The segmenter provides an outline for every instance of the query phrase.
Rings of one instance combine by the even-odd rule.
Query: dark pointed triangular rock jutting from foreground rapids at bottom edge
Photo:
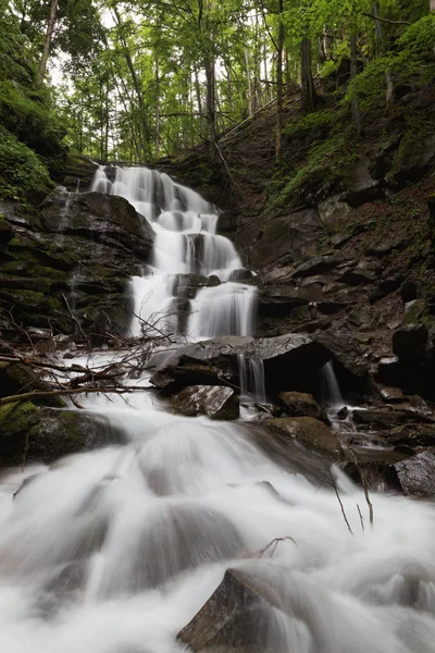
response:
[[[273,590],[241,569],[227,569],[224,579],[177,639],[194,651],[283,653],[284,633],[272,607]]]

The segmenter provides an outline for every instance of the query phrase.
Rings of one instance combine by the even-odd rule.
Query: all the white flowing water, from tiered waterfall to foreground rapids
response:
[[[99,171],[96,184],[130,197],[158,235],[153,269],[133,282],[137,315],[164,306],[169,324],[176,274],[225,281],[240,268],[211,208],[165,175],[119,170],[110,185]],[[206,234],[200,256],[195,233]],[[225,256],[206,254],[207,238]],[[204,291],[215,287],[233,317],[211,317],[211,292],[201,312],[201,291],[199,334],[241,330],[244,284]],[[243,392],[263,398],[261,362],[239,365]],[[334,489],[296,467],[298,447],[283,469],[252,427],[165,412],[148,379],[129,379],[145,389],[130,396],[80,397],[117,444],[1,477],[0,651],[433,653],[433,503],[372,494],[371,528],[363,492],[333,469],[351,534]]]

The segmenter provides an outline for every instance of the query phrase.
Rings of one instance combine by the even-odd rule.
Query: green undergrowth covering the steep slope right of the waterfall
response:
[[[419,156],[434,133],[434,120],[427,110],[415,112],[397,98],[387,101],[386,72],[394,88],[402,85],[403,93],[418,94],[431,86],[435,78],[434,42],[435,14],[431,14],[410,25],[395,49],[371,61],[347,88],[331,94],[325,107],[288,122],[283,132],[283,155],[269,187],[268,208],[295,210],[345,192],[358,158],[380,150],[395,125],[399,134],[389,177],[395,178],[403,164]],[[364,124],[361,138],[351,119],[355,97]]]

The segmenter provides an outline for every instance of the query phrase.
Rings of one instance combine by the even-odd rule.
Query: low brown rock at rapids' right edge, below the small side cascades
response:
[[[291,438],[331,458],[341,457],[341,446],[336,433],[322,421],[312,417],[295,417],[277,418],[268,423],[273,431],[284,438]]]

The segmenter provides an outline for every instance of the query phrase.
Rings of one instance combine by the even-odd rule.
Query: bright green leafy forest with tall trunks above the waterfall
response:
[[[358,136],[400,76],[433,77],[434,10],[435,0],[1,0],[0,178],[10,187],[37,157],[45,183],[66,147],[152,162],[204,143],[217,156],[222,134],[269,106],[279,157],[295,128],[283,124],[289,96],[303,130],[314,111],[334,122],[322,95],[336,94]],[[23,169],[4,173],[17,143]]]

